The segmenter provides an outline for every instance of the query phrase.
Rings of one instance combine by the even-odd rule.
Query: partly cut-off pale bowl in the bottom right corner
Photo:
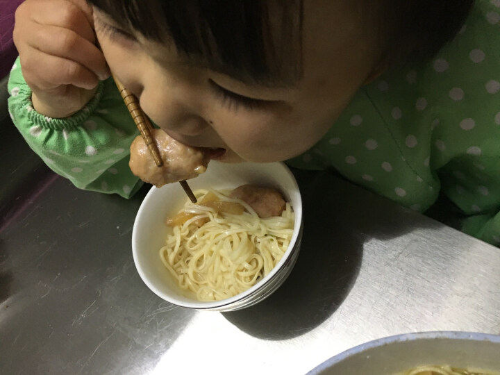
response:
[[[393,375],[420,365],[500,372],[500,336],[435,331],[381,338],[326,360],[308,375]]]

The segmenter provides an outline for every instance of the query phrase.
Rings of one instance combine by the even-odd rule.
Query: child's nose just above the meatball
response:
[[[169,90],[147,90],[140,94],[142,110],[164,131],[179,135],[194,136],[203,132],[207,126],[197,113],[195,99],[176,96]]]

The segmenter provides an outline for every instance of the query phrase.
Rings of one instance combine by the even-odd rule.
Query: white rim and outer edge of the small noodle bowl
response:
[[[247,162],[247,164],[258,164],[258,163]],[[133,228],[132,228],[132,255],[133,255],[133,261],[135,264],[135,269],[137,269],[140,278],[147,285],[149,290],[151,290],[153,293],[155,293],[161,299],[163,299],[169,303],[172,303],[176,306],[180,306],[183,308],[192,308],[192,309],[196,309],[196,310],[218,310],[218,311],[221,311],[221,310],[224,310],[224,308],[230,308],[234,304],[239,303],[240,301],[242,301],[244,299],[248,299],[251,294],[255,294],[255,293],[259,292],[261,289],[265,288],[265,286],[277,276],[278,271],[283,268],[283,265],[285,265],[288,258],[290,258],[290,256],[292,256],[292,253],[294,253],[294,251],[298,250],[298,249],[296,249],[296,244],[299,242],[298,240],[300,240],[299,236],[301,234],[301,226],[303,223],[303,206],[302,206],[303,203],[302,203],[302,195],[301,195],[301,192],[299,189],[299,184],[297,183],[297,179],[295,178],[294,174],[292,173],[292,170],[288,167],[288,165],[286,165],[283,162],[274,162],[274,163],[266,163],[266,164],[280,165],[280,167],[283,169],[283,172],[285,172],[285,174],[287,174],[290,177],[290,182],[292,183],[294,190],[298,192],[297,201],[299,203],[299,207],[294,208],[294,213],[299,213],[299,215],[295,216],[294,233],[292,235],[292,239],[290,240],[290,245],[289,245],[288,249],[285,251],[285,254],[280,259],[280,261],[278,262],[276,267],[274,267],[271,270],[271,272],[269,272],[269,274],[267,274],[265,276],[265,278],[258,281],[258,283],[253,285],[251,288],[245,290],[244,292],[241,292],[240,294],[236,294],[235,296],[233,296],[231,298],[222,299],[219,301],[196,301],[193,299],[190,302],[185,302],[185,301],[179,301],[178,299],[175,299],[175,297],[172,297],[169,294],[165,294],[165,293],[161,292],[153,285],[153,283],[151,283],[149,281],[148,276],[144,273],[144,270],[142,269],[142,267],[139,266],[140,263],[138,261],[138,246],[136,246],[137,236],[138,236],[138,234],[137,234],[138,226],[136,226],[135,223],[136,223],[138,217],[140,215],[143,215],[142,211],[145,209],[144,202],[151,199],[151,196],[153,194],[156,194],[156,192],[158,190],[160,190],[160,188],[156,188],[156,186],[152,186],[140,204],[140,207],[138,209],[138,213],[135,215],[134,224],[133,224]],[[297,217],[299,217],[298,222],[297,222]],[[296,228],[297,228],[297,230],[296,230]]]

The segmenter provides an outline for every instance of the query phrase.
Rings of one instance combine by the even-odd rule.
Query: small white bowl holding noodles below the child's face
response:
[[[265,278],[252,288],[222,301],[197,301],[178,288],[174,278],[160,260],[159,251],[165,244],[168,228],[165,217],[176,213],[187,199],[178,183],[151,188],[142,201],[132,232],[135,267],[142,281],[159,297],[185,308],[230,311],[246,308],[262,301],[276,290],[292,270],[299,254],[302,237],[302,201],[297,181],[283,163],[226,164],[211,161],[207,172],[188,181],[192,190],[231,189],[245,183],[277,188],[289,201],[295,213],[295,226],[290,247]]]

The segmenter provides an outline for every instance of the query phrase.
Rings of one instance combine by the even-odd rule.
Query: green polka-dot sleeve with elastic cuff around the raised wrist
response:
[[[17,58],[8,82],[12,122],[31,149],[54,172],[80,189],[131,197],[142,185],[128,167],[129,147],[138,135],[111,78],[77,113],[63,119],[33,109],[31,89]]]

